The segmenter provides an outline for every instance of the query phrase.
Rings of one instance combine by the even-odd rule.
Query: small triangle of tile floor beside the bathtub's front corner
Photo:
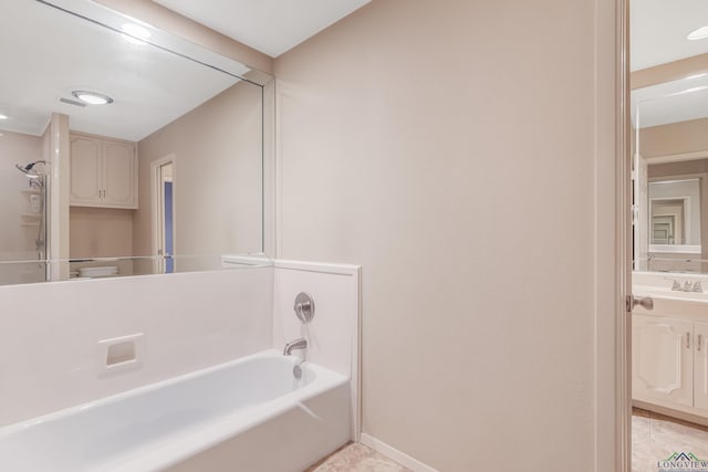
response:
[[[364,444],[346,444],[305,472],[410,472]]]

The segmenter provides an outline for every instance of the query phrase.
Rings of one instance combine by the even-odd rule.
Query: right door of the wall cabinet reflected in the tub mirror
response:
[[[103,144],[103,203],[112,207],[135,207],[135,147],[132,144],[106,140]]]

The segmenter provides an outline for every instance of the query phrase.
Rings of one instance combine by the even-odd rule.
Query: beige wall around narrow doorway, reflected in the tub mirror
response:
[[[152,252],[150,166],[168,156],[175,162],[175,253],[261,250],[261,102],[259,86],[240,82],[138,143],[136,255]]]

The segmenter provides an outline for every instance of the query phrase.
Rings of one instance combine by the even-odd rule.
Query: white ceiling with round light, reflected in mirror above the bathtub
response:
[[[92,2],[71,0],[82,3]],[[0,127],[30,135],[44,132],[51,113],[63,113],[74,130],[139,140],[238,82],[29,0],[0,3],[0,114],[10,118]],[[74,90],[115,103],[82,108],[60,102]]]

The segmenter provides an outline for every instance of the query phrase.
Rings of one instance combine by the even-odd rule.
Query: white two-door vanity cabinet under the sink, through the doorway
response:
[[[633,398],[708,415],[708,323],[641,314],[632,319]]]

